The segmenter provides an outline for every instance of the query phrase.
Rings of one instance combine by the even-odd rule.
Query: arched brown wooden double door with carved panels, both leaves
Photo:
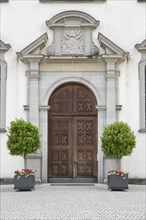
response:
[[[48,113],[48,181],[97,182],[97,112],[82,84],[60,86]]]

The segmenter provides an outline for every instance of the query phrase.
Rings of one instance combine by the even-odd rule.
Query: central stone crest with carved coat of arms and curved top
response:
[[[66,11],[46,21],[53,29],[54,40],[48,56],[93,56],[99,53],[92,41],[92,30],[99,21],[81,11]]]

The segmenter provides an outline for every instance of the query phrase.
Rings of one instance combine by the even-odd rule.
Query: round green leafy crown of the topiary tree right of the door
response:
[[[104,128],[101,144],[105,156],[122,157],[131,155],[136,137],[127,123],[117,121]]]

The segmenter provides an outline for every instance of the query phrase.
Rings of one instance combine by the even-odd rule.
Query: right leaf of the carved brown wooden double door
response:
[[[97,113],[89,89],[74,86],[74,176],[97,176]]]

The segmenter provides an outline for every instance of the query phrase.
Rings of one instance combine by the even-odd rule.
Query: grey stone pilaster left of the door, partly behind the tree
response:
[[[39,128],[39,63],[43,55],[26,55],[23,61],[29,64],[28,77],[28,120]],[[39,128],[40,129],[40,128]],[[25,159],[25,166],[36,172],[36,182],[42,181],[42,154],[41,150],[29,154]]]

